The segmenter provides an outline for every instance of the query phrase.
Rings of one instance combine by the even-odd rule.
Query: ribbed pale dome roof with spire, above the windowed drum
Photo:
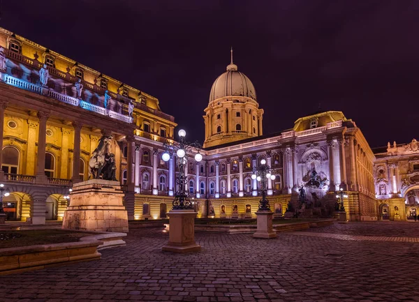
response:
[[[233,56],[227,71],[216,78],[212,84],[210,102],[224,96],[247,96],[256,100],[256,90],[249,77],[237,70]]]

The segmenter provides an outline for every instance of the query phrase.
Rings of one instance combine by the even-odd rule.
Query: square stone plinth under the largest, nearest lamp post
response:
[[[169,216],[169,242],[163,246],[165,252],[198,252],[200,245],[195,242],[195,218],[193,210],[172,210]]]

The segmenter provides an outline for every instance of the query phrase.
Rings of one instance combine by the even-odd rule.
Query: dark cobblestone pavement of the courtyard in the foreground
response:
[[[393,223],[393,233],[404,225],[415,227]],[[376,236],[381,225],[344,225],[362,227]],[[161,229],[135,229],[126,247],[103,250],[101,260],[1,276],[0,301],[419,301],[419,243],[287,233],[196,240],[201,252],[174,255],[161,252]]]

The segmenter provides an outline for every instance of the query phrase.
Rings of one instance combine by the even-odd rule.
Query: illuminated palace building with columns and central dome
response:
[[[89,179],[89,158],[101,135],[112,136],[117,179],[129,220],[166,218],[176,191],[176,158],[162,160],[175,139],[175,119],[159,100],[0,29],[0,182],[8,220],[61,220],[73,183]],[[263,109],[249,77],[231,61],[216,78],[205,115],[205,142],[188,154],[187,188],[198,217],[255,218],[260,199],[251,179],[261,159],[276,216],[297,204],[302,186],[330,216],[344,190],[349,220],[408,220],[419,205],[419,144],[369,147],[342,112],[315,112],[293,127],[263,133]],[[320,206],[321,205],[321,206]]]

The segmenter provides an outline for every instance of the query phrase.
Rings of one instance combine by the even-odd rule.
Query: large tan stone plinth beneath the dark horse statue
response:
[[[118,181],[91,179],[73,185],[63,229],[128,232],[128,215]]]

